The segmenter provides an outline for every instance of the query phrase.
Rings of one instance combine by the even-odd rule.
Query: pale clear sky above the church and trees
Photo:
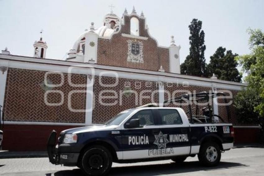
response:
[[[125,7],[131,13],[143,10],[150,34],[158,44],[168,46],[174,35],[181,45],[180,62],[189,54],[189,28],[193,18],[203,21],[205,58],[219,46],[234,53],[249,53],[248,27],[264,30],[264,1],[143,1],[143,0],[0,0],[0,49],[8,47],[11,54],[33,56],[33,43],[39,31],[48,43],[46,58],[62,59],[75,40],[91,22],[103,25],[103,17],[115,6],[114,13],[122,16]]]

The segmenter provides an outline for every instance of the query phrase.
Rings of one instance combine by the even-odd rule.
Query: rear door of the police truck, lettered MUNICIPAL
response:
[[[190,128],[187,120],[182,119],[177,109],[155,109],[160,115],[159,136],[163,143],[155,141],[158,148],[165,149],[169,155],[189,155]]]

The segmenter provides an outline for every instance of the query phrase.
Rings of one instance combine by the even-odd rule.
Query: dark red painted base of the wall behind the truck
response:
[[[77,126],[5,124],[3,128],[3,150],[45,151],[48,137],[53,129],[59,135],[61,131],[74,127]],[[259,142],[260,130],[257,128],[234,128],[234,133],[235,143]]]

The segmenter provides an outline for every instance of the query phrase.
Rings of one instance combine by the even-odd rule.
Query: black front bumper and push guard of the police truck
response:
[[[59,145],[56,144],[56,131],[52,131],[47,144],[48,158],[52,164],[63,164],[65,166],[76,166],[78,163],[79,153],[77,152],[60,152]],[[62,144],[63,146],[63,144]],[[65,149],[65,148],[64,148]]]

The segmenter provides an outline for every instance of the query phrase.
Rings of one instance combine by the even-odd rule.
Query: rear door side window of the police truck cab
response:
[[[182,124],[180,114],[176,109],[159,109],[162,125]]]

